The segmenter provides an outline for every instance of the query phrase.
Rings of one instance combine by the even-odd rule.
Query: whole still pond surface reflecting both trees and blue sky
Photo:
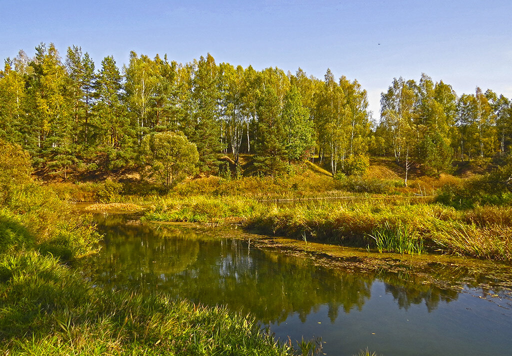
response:
[[[510,290],[485,278],[472,284],[450,266],[433,271],[440,283],[349,272],[256,235],[126,219],[98,217],[103,247],[86,270],[98,286],[224,304],[250,312],[282,340],[322,337],[328,355],[366,347],[382,355],[512,354]]]

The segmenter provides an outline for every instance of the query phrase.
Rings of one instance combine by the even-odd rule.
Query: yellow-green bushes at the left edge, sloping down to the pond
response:
[[[4,152],[7,155],[1,156],[2,162],[11,167],[13,175],[9,184],[0,186],[4,197],[2,249],[33,246],[64,260],[91,253],[100,237],[90,219],[73,214],[51,190],[33,182],[28,175],[30,165],[29,171],[27,166],[17,166],[28,161],[25,152],[9,145]]]

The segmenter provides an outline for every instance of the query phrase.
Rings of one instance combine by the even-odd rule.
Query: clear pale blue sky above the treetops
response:
[[[106,55],[122,67],[134,50],[318,78],[330,68],[361,83],[375,118],[393,77],[422,72],[459,95],[479,86],[512,98],[512,0],[0,0],[0,58],[41,42],[61,55],[80,46],[97,67]]]

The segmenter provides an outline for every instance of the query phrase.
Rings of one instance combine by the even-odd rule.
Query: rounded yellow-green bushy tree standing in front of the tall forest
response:
[[[141,160],[150,165],[165,187],[172,187],[194,172],[199,160],[196,145],[184,135],[158,133],[145,136],[141,143]]]

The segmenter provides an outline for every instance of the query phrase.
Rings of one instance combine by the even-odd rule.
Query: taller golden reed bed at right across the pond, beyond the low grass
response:
[[[442,250],[485,259],[512,261],[510,208],[454,208],[408,203],[324,203],[272,207],[245,219],[244,226],[307,241],[337,241],[420,254]],[[371,241],[370,241],[371,242]]]

